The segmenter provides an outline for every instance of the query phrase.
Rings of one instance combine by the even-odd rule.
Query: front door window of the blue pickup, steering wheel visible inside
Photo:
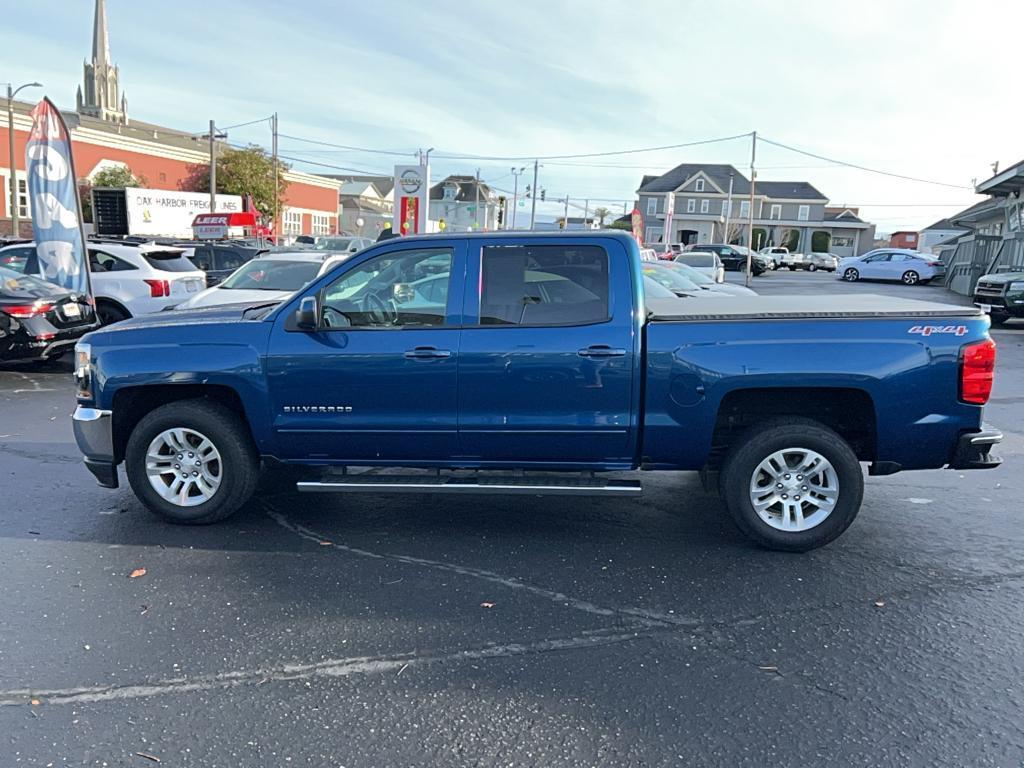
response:
[[[324,292],[329,328],[433,328],[445,322],[451,249],[386,253],[345,272]]]

